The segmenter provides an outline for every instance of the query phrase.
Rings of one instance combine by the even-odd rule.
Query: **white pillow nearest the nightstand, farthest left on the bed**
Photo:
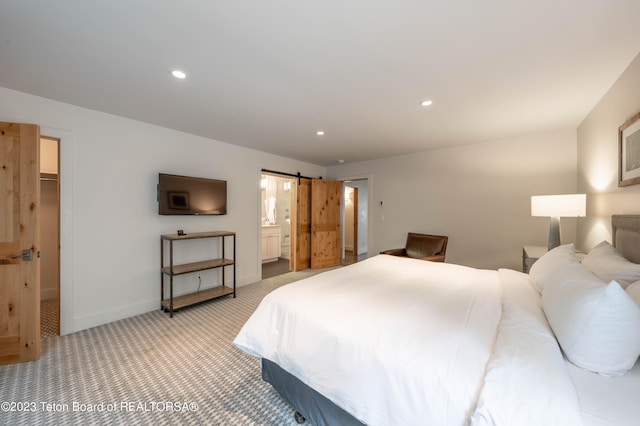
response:
[[[565,271],[567,277],[571,277],[571,271],[579,267],[580,262],[576,258],[573,244],[565,244],[549,250],[531,265],[529,278],[538,292],[542,293],[547,282],[563,278],[564,273],[562,276],[558,275],[561,271]]]

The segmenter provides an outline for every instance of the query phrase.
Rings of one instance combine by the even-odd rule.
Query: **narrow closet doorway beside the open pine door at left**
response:
[[[40,336],[60,335],[60,140],[40,138]]]

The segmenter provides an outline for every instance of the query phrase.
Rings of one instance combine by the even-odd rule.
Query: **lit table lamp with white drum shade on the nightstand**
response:
[[[586,215],[586,194],[533,195],[531,197],[531,216],[550,218],[549,244],[551,250],[560,245],[560,218]]]

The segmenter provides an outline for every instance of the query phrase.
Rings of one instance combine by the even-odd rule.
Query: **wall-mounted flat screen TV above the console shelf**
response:
[[[158,212],[161,215],[227,214],[227,181],[160,173]]]

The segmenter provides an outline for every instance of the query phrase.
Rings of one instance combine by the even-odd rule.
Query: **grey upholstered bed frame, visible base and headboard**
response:
[[[640,215],[613,215],[611,238],[628,260],[640,263]],[[302,383],[276,363],[262,359],[262,378],[296,410],[298,423],[310,420],[314,426],[363,426],[351,414]]]

